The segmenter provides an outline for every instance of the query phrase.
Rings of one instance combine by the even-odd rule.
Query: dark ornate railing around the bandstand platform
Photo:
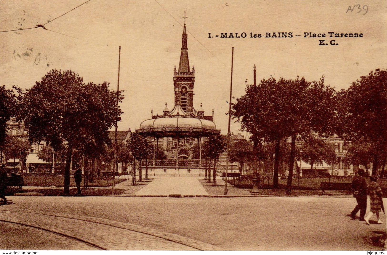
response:
[[[185,159],[185,158],[148,158],[141,161],[142,167],[147,164],[148,167],[213,167],[212,160]]]

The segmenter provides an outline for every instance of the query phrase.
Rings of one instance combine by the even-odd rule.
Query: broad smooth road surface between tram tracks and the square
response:
[[[356,205],[353,197],[10,196],[9,199],[14,204],[0,206],[0,210],[10,211],[0,213],[1,217],[13,214],[12,211],[28,213],[29,210],[66,214],[70,218],[111,224],[117,229],[113,235],[124,228],[200,250],[215,250],[216,247],[225,250],[381,250],[380,240],[386,231],[385,214],[381,214],[383,224],[376,224],[373,216],[371,225],[346,216]],[[387,204],[387,199],[384,202]],[[74,219],[52,223],[59,224],[58,229],[65,223],[82,224]],[[68,228],[65,226],[65,230],[73,231]],[[92,231],[82,233],[94,235]],[[101,245],[103,243],[101,241]]]

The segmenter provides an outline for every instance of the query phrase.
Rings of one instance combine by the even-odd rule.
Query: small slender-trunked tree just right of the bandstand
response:
[[[204,142],[202,154],[205,158],[214,160],[214,171],[212,173],[212,185],[216,186],[216,163],[219,156],[226,151],[226,141],[221,134],[209,136],[208,141]]]

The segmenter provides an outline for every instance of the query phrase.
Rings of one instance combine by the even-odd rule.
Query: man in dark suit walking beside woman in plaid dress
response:
[[[367,183],[364,170],[358,171],[358,176],[352,181],[353,196],[356,197],[358,203],[351,212],[352,219],[356,219],[356,214],[360,210],[360,221],[364,221],[365,211],[367,209]]]

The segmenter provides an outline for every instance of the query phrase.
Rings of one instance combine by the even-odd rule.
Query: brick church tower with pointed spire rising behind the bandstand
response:
[[[184,12],[184,27],[182,34],[182,52],[180,54],[179,69],[173,70],[173,85],[175,87],[175,105],[180,104],[182,109],[187,113],[193,112],[194,105],[194,83],[195,83],[195,68],[192,66],[190,71],[190,62],[188,61],[187,48],[187,31],[185,29]]]

